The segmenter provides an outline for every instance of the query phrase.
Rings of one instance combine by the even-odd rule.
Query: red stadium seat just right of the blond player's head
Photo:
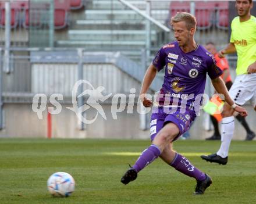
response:
[[[195,2],[195,18],[198,29],[207,29],[212,26],[215,2]]]

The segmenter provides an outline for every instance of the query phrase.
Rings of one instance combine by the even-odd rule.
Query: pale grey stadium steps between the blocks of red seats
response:
[[[144,0],[130,0],[145,12]],[[151,16],[161,23],[168,19],[169,2],[152,2]],[[93,51],[131,51],[128,56],[140,61],[141,49],[145,48],[147,33],[144,17],[138,15],[118,0],[88,0],[84,15],[72,25],[67,37],[56,41],[60,47],[82,47]],[[159,28],[151,24],[152,46],[162,40]],[[136,53],[138,55],[131,55]],[[127,56],[127,55],[126,55]]]

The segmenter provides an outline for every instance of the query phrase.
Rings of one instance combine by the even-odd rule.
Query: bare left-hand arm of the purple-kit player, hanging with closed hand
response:
[[[150,85],[156,75],[157,75],[157,68],[154,65],[152,65],[152,63],[151,63],[151,65],[148,67],[148,69],[145,73],[141,91],[140,91],[140,100],[141,100],[141,102],[143,102],[143,105],[145,107],[150,107],[152,105],[152,101],[147,99],[145,97],[145,94],[147,93],[148,88],[150,88]]]

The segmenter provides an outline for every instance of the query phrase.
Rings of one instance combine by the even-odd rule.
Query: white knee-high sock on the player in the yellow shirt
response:
[[[234,134],[234,116],[224,117],[221,124],[221,147],[217,155],[226,158],[229,154],[229,145]]]

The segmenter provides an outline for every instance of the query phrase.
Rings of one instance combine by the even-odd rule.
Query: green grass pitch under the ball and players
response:
[[[0,203],[256,203],[256,141],[232,141],[226,166],[201,160],[219,141],[176,141],[174,147],[213,180],[204,195],[193,196],[195,180],[157,159],[123,185],[120,178],[146,140],[0,139]],[[76,190],[53,198],[47,179],[70,173]]]

